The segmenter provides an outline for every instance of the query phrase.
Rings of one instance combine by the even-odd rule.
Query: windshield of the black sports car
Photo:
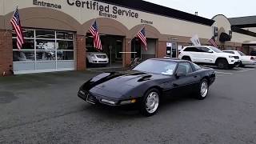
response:
[[[168,62],[161,60],[149,59],[136,66],[133,70],[154,73],[173,75],[177,66],[177,62]]]

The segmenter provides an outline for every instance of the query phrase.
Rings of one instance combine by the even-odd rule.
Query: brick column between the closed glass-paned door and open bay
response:
[[[86,70],[86,37],[77,35],[77,70]]]

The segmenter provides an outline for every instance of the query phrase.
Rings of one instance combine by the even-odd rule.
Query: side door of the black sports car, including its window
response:
[[[178,76],[178,74],[184,74]],[[174,95],[189,94],[196,88],[196,83],[200,81],[200,76],[190,66],[190,62],[179,62],[175,73],[175,79],[172,82]]]

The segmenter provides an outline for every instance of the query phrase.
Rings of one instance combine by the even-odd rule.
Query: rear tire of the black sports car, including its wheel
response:
[[[197,98],[199,100],[203,100],[207,97],[209,92],[209,82],[207,81],[206,78],[202,79],[198,86],[198,93],[197,93]]]

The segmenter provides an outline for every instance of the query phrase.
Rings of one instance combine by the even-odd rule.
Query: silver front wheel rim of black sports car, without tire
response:
[[[146,98],[146,111],[153,114],[158,110],[159,106],[159,95],[157,92],[151,92]]]

